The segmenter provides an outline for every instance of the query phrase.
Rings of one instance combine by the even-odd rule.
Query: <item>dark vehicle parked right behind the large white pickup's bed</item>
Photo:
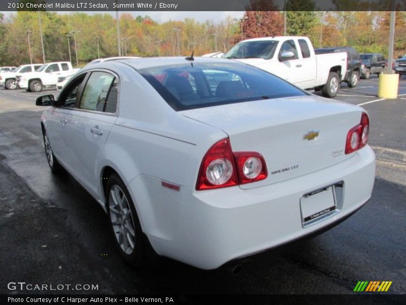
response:
[[[316,54],[326,54],[326,53],[347,53],[347,73],[344,81],[349,87],[355,87],[358,83],[361,74],[361,57],[356,49],[351,47],[334,47],[334,48],[322,48],[316,49]]]

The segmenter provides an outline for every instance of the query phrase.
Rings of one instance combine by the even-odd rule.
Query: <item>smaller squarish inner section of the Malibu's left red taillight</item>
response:
[[[267,177],[265,160],[260,154],[247,151],[234,153],[234,157],[240,184],[259,181]]]

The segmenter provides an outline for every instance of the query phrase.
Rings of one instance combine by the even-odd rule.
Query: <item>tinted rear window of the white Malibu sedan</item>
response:
[[[307,95],[272,74],[240,63],[187,63],[138,72],[176,111]]]

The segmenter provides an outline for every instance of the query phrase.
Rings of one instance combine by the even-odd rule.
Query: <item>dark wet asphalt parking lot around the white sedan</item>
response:
[[[351,294],[358,281],[393,281],[387,293],[406,293],[406,77],[395,100],[379,99],[377,85],[376,76],[343,84],[335,98],[368,111],[377,156],[371,200],[332,230],[254,256],[238,276],[170,259],[128,267],[99,205],[72,177],[48,168],[35,98],[56,92],[0,89],[0,293],[35,292],[8,289],[18,281],[98,285],[51,293],[176,295]]]

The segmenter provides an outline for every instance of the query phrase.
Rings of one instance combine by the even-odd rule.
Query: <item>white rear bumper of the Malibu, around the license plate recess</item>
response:
[[[143,230],[158,254],[213,269],[341,221],[368,201],[374,179],[375,155],[366,146],[340,164],[249,190],[231,187],[197,192],[181,187],[176,192],[158,188],[159,179],[145,176],[131,181],[128,189],[132,196],[140,194],[140,182],[149,189],[144,189],[149,210],[138,210]],[[303,227],[301,196],[337,181],[345,185],[341,210]]]

